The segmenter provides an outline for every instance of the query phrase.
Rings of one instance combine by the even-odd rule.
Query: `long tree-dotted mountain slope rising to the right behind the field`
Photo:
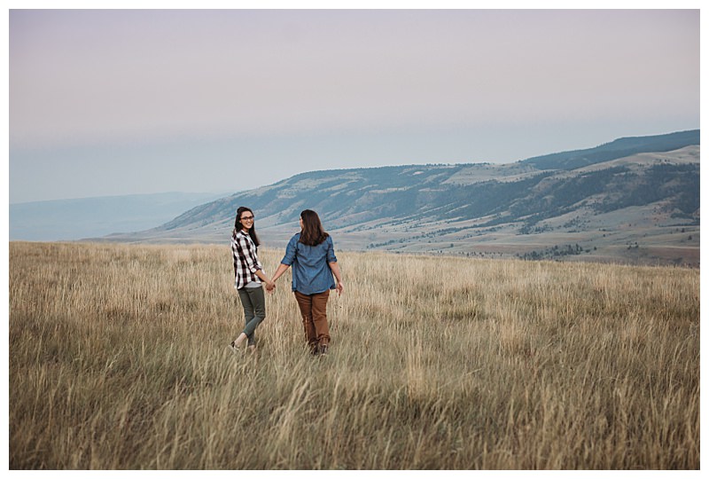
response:
[[[226,243],[239,206],[267,247],[311,208],[347,249],[698,265],[699,130],[503,165],[313,171],[105,240]]]

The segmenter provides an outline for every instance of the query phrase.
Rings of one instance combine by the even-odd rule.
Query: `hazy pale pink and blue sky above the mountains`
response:
[[[698,10],[12,10],[10,201],[699,128]]]

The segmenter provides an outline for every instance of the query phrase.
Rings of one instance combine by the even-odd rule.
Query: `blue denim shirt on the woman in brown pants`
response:
[[[300,243],[300,233],[293,235],[281,263],[292,267],[292,290],[302,294],[323,293],[335,289],[335,280],[329,263],[335,263],[335,248],[332,237],[328,236],[322,243],[311,247]]]

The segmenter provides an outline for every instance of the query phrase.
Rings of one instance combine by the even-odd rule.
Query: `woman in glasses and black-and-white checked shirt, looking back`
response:
[[[266,301],[261,283],[272,291],[276,284],[269,281],[263,272],[263,266],[257,255],[260,241],[253,227],[253,211],[239,207],[231,232],[231,254],[234,257],[234,287],[244,307],[245,327],[237,339],[231,342],[231,348],[241,349],[248,340],[248,348],[256,349],[254,331],[266,318]]]

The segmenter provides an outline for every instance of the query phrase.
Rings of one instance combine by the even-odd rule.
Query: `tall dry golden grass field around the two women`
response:
[[[318,360],[289,274],[228,349],[230,262],[11,243],[10,467],[699,467],[697,270],[340,252]]]

